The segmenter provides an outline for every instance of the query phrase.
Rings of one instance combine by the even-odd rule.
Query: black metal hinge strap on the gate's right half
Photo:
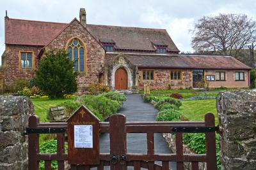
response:
[[[218,127],[173,127],[173,132],[187,132],[187,133],[200,133],[200,132],[215,132]]]

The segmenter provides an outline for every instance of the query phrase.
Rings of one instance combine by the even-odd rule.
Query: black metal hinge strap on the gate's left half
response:
[[[66,129],[64,128],[28,128],[26,129],[25,134],[55,134],[55,133],[64,133]]]

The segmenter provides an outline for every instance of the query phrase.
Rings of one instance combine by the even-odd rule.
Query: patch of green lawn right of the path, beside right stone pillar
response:
[[[191,121],[204,121],[204,115],[211,112],[215,116],[215,124],[218,124],[216,99],[182,101],[179,111]]]

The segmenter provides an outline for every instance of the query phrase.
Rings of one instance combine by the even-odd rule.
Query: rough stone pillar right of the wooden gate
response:
[[[220,92],[221,169],[256,168],[256,90]]]

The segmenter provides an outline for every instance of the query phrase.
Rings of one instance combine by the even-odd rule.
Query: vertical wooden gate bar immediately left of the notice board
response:
[[[65,133],[57,134],[57,155],[61,157],[63,153],[65,153]],[[64,170],[64,160],[58,160],[58,170]]]

